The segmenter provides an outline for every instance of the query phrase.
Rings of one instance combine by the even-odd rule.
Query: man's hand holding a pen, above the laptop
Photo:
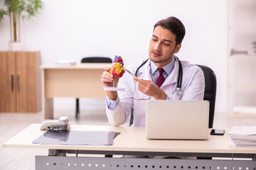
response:
[[[134,80],[138,82],[138,89],[139,91],[142,91],[143,94],[152,96],[156,100],[166,100],[167,95],[159,88],[159,86],[154,84],[154,82],[137,78],[134,78]]]

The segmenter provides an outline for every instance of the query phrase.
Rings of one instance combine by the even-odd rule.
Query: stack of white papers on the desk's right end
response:
[[[256,126],[233,126],[228,139],[234,147],[256,147]]]

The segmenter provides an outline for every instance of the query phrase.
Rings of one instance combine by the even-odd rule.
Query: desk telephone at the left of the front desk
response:
[[[43,120],[41,130],[69,130],[70,123],[68,116],[61,116],[59,120]]]

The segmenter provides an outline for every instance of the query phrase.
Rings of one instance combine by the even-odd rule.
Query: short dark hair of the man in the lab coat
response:
[[[169,18],[158,21],[154,25],[154,29],[156,28],[156,26],[161,26],[162,28],[170,30],[171,33],[176,35],[176,45],[181,44],[185,36],[186,30],[183,23],[181,23],[181,21],[178,18],[171,16]]]

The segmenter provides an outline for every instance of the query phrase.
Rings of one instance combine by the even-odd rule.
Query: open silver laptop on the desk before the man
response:
[[[207,140],[209,101],[146,101],[146,138]]]

